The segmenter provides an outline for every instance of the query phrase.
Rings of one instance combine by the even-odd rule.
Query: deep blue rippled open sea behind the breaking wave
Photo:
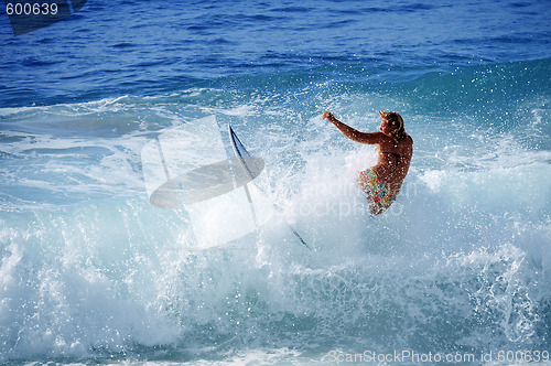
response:
[[[549,13],[547,1],[89,1],[18,37],[4,14],[1,100],[19,107],[156,96],[290,72],[402,80],[545,58]]]

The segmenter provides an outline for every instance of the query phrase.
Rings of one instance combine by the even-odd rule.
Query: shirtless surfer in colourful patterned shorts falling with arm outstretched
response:
[[[382,214],[395,202],[410,168],[413,139],[403,129],[403,119],[396,111],[379,110],[380,132],[360,132],[326,111],[322,118],[336,126],[353,141],[377,144],[377,164],[359,173],[358,185],[367,194],[371,215]]]

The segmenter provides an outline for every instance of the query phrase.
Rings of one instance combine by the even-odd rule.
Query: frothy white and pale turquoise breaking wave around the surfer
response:
[[[318,364],[366,347],[548,345],[549,151],[525,146],[522,128],[480,133],[466,110],[431,118],[403,93],[324,87],[335,89],[192,89],[2,115],[0,362]],[[322,121],[325,101],[364,130],[379,101],[404,108],[415,151],[387,214],[370,217],[355,183],[372,148]],[[213,112],[266,161],[282,214],[199,250],[184,211],[148,203],[139,154]]]

